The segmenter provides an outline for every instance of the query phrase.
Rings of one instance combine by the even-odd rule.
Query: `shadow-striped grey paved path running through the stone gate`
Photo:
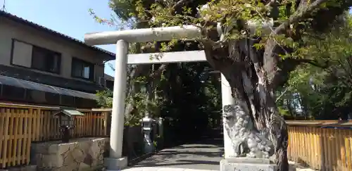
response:
[[[133,170],[220,170],[222,154],[222,141],[205,140],[165,148],[134,165]]]

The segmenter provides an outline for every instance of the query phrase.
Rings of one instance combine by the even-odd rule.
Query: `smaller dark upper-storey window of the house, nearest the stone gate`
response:
[[[72,76],[86,80],[94,80],[94,64],[72,58]]]

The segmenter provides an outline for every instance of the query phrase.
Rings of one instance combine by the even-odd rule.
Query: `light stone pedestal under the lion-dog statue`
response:
[[[266,158],[227,158],[220,161],[220,171],[276,171]]]

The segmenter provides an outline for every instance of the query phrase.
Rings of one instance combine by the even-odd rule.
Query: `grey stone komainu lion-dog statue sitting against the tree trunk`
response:
[[[251,117],[241,106],[225,106],[222,116],[235,151],[234,157],[270,158],[274,154],[272,141],[254,127]]]

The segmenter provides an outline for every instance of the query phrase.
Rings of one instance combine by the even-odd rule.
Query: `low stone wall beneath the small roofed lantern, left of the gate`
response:
[[[31,163],[37,165],[37,170],[43,171],[94,170],[103,166],[108,149],[108,138],[73,139],[69,143],[32,143]]]

